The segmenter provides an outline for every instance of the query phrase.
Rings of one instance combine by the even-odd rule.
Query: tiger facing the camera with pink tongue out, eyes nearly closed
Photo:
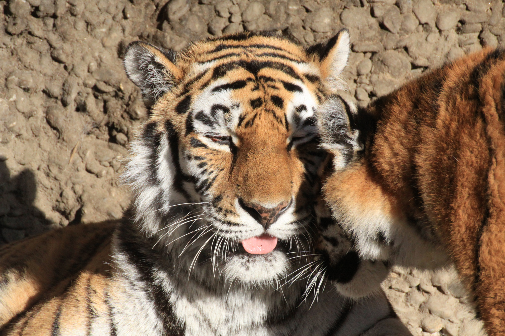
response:
[[[119,223],[3,247],[2,334],[408,334],[383,293],[319,289],[309,309],[313,114],[348,53],[346,31],[309,49],[252,33],[179,54],[132,43],[151,112],[124,173],[134,203]]]

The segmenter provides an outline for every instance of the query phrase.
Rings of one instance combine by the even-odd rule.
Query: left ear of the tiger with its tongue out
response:
[[[140,88],[147,108],[182,77],[175,65],[176,55],[172,50],[141,41],[132,42],[126,48],[123,58],[126,75]]]

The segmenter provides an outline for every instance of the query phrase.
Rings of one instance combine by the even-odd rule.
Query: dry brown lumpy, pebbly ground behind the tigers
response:
[[[347,94],[366,104],[446,60],[505,45],[503,16],[499,0],[0,1],[0,242],[128,206],[117,176],[146,115],[121,65],[133,40],[180,50],[280,29],[307,45],[346,27]],[[484,334],[452,269],[395,268],[383,286],[415,335]]]

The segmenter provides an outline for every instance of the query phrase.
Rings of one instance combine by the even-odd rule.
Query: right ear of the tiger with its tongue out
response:
[[[347,65],[350,53],[349,31],[341,29],[335,36],[324,43],[309,47],[309,53],[314,54],[314,60],[319,62],[321,76],[331,90],[344,88],[340,74]]]

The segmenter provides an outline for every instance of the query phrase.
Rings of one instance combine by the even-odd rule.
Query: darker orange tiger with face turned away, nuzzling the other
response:
[[[333,153],[324,197],[359,255],[452,259],[489,335],[505,334],[504,75],[505,51],[486,49],[358,111],[337,96],[318,110]],[[324,236],[319,248],[332,250]]]

